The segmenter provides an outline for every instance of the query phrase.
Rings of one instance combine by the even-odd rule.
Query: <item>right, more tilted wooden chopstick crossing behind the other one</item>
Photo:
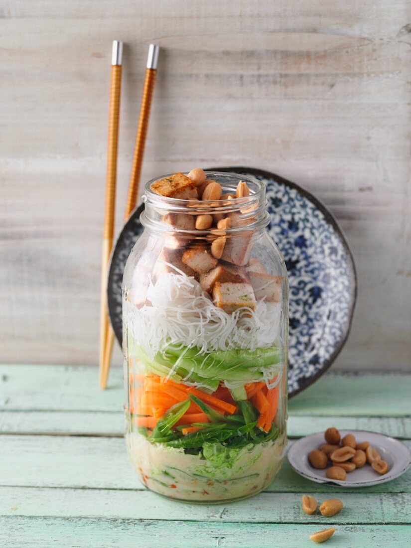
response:
[[[146,66],[146,75],[144,79],[144,88],[142,90],[141,97],[139,124],[135,136],[132,173],[130,175],[130,182],[128,186],[127,203],[124,212],[124,222],[127,221],[130,214],[133,212],[133,209],[136,206],[137,196],[139,192],[142,159],[144,156],[147,129],[149,127],[151,99],[153,96],[154,84],[156,82],[158,52],[158,45],[150,44],[149,56]],[[111,326],[109,326],[104,352],[102,376],[100,378],[100,388],[102,389],[105,389],[107,386],[107,377],[109,376],[113,341],[114,333]]]

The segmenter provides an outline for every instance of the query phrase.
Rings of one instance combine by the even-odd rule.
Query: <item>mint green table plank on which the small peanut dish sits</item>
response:
[[[3,436],[1,443],[0,486],[143,489],[122,438],[16,435]],[[411,448],[410,440],[404,443]],[[368,487],[367,493],[410,493],[410,478],[411,469],[389,483]],[[330,486],[296,474],[287,461],[266,490],[332,492]]]

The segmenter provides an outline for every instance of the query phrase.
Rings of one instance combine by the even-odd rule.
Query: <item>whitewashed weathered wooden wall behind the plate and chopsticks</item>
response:
[[[0,361],[97,360],[110,52],[121,39],[117,229],[157,42],[142,180],[242,164],[315,193],[358,269],[335,367],[409,368],[409,15],[406,0],[3,0]]]

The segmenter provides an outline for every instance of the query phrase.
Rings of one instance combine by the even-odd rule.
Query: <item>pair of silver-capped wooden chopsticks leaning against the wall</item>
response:
[[[124,221],[127,221],[135,208],[139,182],[141,176],[142,158],[149,126],[151,99],[156,81],[157,61],[159,47],[150,44],[149,57],[147,59],[144,88],[142,91],[139,124],[135,137],[132,173],[128,186],[127,204],[125,206]],[[121,92],[123,43],[113,42],[111,59],[110,80],[110,108],[109,108],[109,136],[107,141],[107,170],[106,170],[106,195],[104,210],[104,229],[101,262],[101,303],[100,303],[100,388],[107,386],[111,353],[113,348],[114,333],[107,315],[107,269],[111,249],[113,246],[114,212],[116,203],[116,178],[117,178],[117,150],[118,150],[118,121]]]

